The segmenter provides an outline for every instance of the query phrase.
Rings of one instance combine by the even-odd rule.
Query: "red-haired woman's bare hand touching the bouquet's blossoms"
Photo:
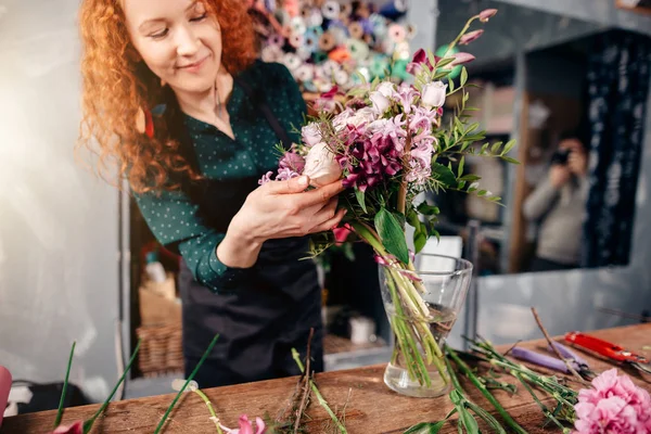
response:
[[[231,220],[217,256],[231,267],[251,267],[267,240],[303,237],[335,228],[345,209],[336,210],[342,181],[305,191],[308,177],[267,182],[254,190]]]

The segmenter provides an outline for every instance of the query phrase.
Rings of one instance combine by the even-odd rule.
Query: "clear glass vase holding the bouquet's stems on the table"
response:
[[[394,333],[384,383],[414,397],[449,391],[442,346],[465,301],[472,264],[448,256],[421,254],[417,267],[381,260],[380,288]]]

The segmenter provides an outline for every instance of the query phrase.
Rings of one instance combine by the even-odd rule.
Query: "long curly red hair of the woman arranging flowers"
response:
[[[136,129],[140,107],[169,102],[178,108],[178,103],[174,92],[168,87],[162,88],[159,79],[133,55],[136,49],[125,25],[122,1],[81,2],[84,90],[79,145],[97,151],[97,142],[100,175],[106,174],[110,161],[115,162],[119,176],[126,178],[137,193],[174,190],[180,183],[173,179],[197,180],[201,175],[183,156],[173,125],[167,125],[182,123],[178,113],[175,115],[178,110],[166,111],[166,115],[156,120],[152,139]],[[224,66],[231,74],[248,67],[257,58],[257,49],[245,2],[202,1],[221,28]],[[178,126],[176,128],[178,130]]]

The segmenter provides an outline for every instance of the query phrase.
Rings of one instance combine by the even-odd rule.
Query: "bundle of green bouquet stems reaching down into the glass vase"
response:
[[[420,295],[425,292],[425,288],[416,272],[413,263],[409,260],[408,264],[403,264],[393,258],[370,226],[360,221],[355,221],[352,226],[384,263],[384,278],[393,303],[393,309],[387,309],[387,314],[396,336],[392,363],[396,365],[401,355],[404,368],[409,376],[426,387],[432,385],[427,368],[434,366],[447,384],[449,380],[444,354],[430,328],[430,309]]]

